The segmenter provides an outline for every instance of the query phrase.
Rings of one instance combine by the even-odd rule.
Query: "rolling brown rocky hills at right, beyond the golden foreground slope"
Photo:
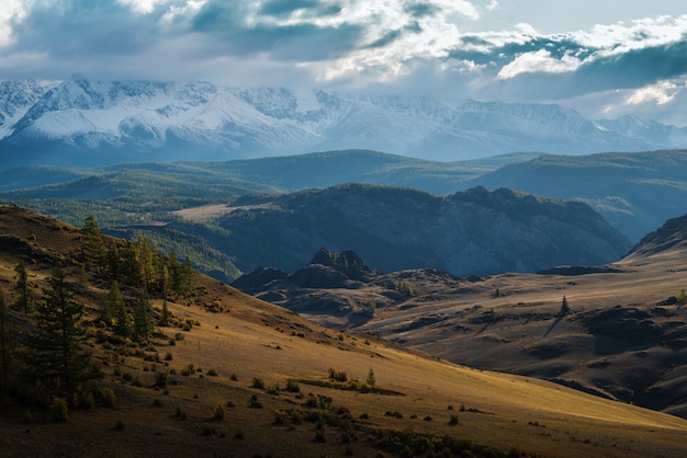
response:
[[[612,264],[537,275],[414,270],[302,283],[256,271],[236,286],[335,329],[687,417],[686,229],[687,216],[676,218]]]

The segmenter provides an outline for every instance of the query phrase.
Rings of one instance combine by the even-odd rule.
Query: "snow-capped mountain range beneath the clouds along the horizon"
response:
[[[560,105],[209,82],[0,83],[4,165],[234,159],[374,149],[435,160],[516,151],[589,153],[687,147],[687,128],[633,116],[593,121]]]

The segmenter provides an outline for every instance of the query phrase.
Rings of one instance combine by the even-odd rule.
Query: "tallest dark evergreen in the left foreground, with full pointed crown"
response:
[[[36,304],[36,329],[27,339],[26,363],[34,379],[53,385],[57,392],[75,392],[88,378],[90,354],[82,350],[86,330],[81,325],[83,306],[61,268],[56,267]]]

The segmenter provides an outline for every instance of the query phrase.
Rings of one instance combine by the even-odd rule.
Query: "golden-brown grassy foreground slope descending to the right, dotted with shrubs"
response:
[[[49,275],[49,266],[37,254],[68,259],[78,251],[80,240],[74,228],[52,226],[25,213],[19,219],[0,215],[0,233],[8,232],[24,240],[30,234],[36,236],[29,241],[35,249],[33,257],[24,260],[35,260],[27,267],[36,284]],[[0,250],[0,284],[5,290],[12,285],[12,267],[18,261],[9,251],[9,247]],[[76,267],[69,268],[69,273],[75,275]],[[105,287],[97,277],[91,280],[93,293]],[[360,379],[372,367],[378,386],[405,394],[362,394],[301,383],[305,394],[329,396],[335,405],[350,409],[360,428],[359,439],[350,444],[353,456],[376,454],[370,448],[376,436],[365,433],[365,428],[449,434],[504,453],[517,447],[545,456],[684,456],[687,453],[687,422],[677,417],[534,379],[426,358],[363,335],[338,334],[209,277],[199,275],[196,282],[195,302],[172,302],[170,308],[178,318],[198,320],[201,325],[184,333],[185,339],[174,346],[158,342],[157,352],[171,353],[169,367],[178,373],[189,364],[203,368],[202,373],[174,376],[179,383],[170,386],[169,394],[164,394],[153,388],[154,373],[144,370],[151,363],[133,356],[120,362],[121,370],[139,377],[142,387],[133,387],[113,375],[114,364],[110,363],[104,383],[117,393],[114,409],[75,411],[66,424],[45,423],[41,419],[23,424],[20,409],[10,404],[0,413],[2,455],[344,456],[346,445],[334,427],[326,428],[326,443],[322,444],[314,440],[312,423],[293,428],[273,424],[274,409],[293,409],[303,403],[302,399],[285,391],[271,396],[250,388],[254,377],[262,378],[267,388],[284,387],[288,378],[325,378],[333,366]],[[80,299],[93,307],[88,298]],[[223,305],[224,312],[211,313],[201,307],[217,302]],[[159,301],[156,306],[159,307]],[[179,332],[164,331],[168,335]],[[369,344],[365,339],[370,339]],[[98,346],[93,351],[103,354]],[[216,369],[218,376],[206,375],[210,368]],[[230,380],[232,374],[237,376],[237,381]],[[248,408],[252,394],[259,397],[264,409]],[[161,401],[161,407],[153,405],[155,399]],[[225,419],[211,421],[213,407],[227,401],[235,407],[227,409]],[[449,425],[448,407],[453,405],[458,411],[461,404],[483,413],[455,412],[460,424]],[[188,420],[174,417],[178,405],[188,412]],[[387,411],[401,412],[403,419],[385,416]],[[369,420],[358,420],[362,413]],[[417,419],[412,419],[413,414]],[[423,421],[427,415],[433,420]],[[114,424],[120,419],[125,427],[115,431]],[[203,436],[203,430],[209,426],[226,436]],[[234,437],[238,431],[243,439]]]

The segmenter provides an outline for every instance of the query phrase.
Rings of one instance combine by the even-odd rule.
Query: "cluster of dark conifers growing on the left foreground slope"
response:
[[[68,280],[67,267],[56,266],[36,295],[20,261],[11,299],[0,287],[0,393],[30,408],[48,408],[55,420],[64,420],[68,408],[112,403],[112,390],[97,381],[102,374],[88,351],[90,337],[142,353],[159,334],[157,327],[173,322],[167,298],[189,298],[194,290],[190,260],[180,262],[173,252],[162,255],[145,237],[103,238],[92,216],[81,234],[82,256],[69,267],[76,282]],[[89,296],[89,277],[109,285],[92,317],[77,300],[79,294]],[[162,298],[162,310],[154,314],[155,297]]]

